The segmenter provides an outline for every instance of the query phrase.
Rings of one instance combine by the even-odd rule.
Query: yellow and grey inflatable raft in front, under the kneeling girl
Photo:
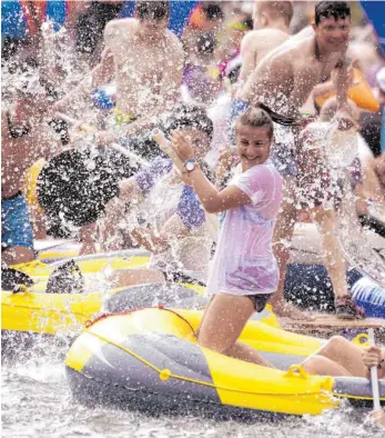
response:
[[[146,412],[250,418],[261,411],[317,415],[338,398],[371,399],[366,379],[307,375],[301,366],[322,340],[250,321],[241,341],[277,369],[233,359],[196,344],[201,311],[152,308],[104,316],[65,359],[73,396]],[[385,386],[381,387],[385,400]]]

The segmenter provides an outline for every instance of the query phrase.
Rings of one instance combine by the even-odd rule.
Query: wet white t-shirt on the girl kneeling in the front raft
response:
[[[207,291],[273,293],[280,273],[272,237],[281,205],[282,177],[269,159],[243,173],[240,165],[229,186],[240,188],[252,203],[222,213]]]

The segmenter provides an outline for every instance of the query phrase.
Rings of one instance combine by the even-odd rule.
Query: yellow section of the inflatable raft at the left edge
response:
[[[1,330],[55,335],[79,330],[95,312],[100,311],[103,292],[98,290],[105,270],[138,268],[146,265],[146,255],[125,257],[93,257],[78,259],[77,265],[85,282],[94,285],[88,292],[47,293],[49,279],[62,263],[45,265],[41,261],[13,266],[28,275],[33,286],[22,291],[1,291]],[[100,289],[100,288],[99,288]],[[115,289],[113,292],[121,291]]]

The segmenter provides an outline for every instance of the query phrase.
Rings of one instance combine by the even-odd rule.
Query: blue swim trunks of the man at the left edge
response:
[[[33,232],[26,198],[21,192],[1,199],[1,250],[27,247],[33,250]]]

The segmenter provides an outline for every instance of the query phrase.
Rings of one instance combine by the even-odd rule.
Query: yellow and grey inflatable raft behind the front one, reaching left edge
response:
[[[79,332],[85,321],[101,310],[105,301],[109,311],[121,311],[153,305],[168,305],[176,307],[203,307],[206,302],[204,288],[196,285],[144,285],[131,288],[118,288],[109,291],[109,299],[103,291],[105,271],[112,272],[122,268],[145,267],[149,262],[148,253],[130,250],[111,253],[80,257],[73,259],[81,271],[87,287],[83,292],[77,292],[77,286],[70,292],[69,277],[67,285],[61,290],[61,285],[55,287],[57,292],[47,292],[49,282],[53,282],[54,273],[60,273],[63,266],[69,262],[45,265],[33,261],[14,266],[13,268],[28,275],[33,280],[33,286],[22,288],[21,292],[1,291],[1,330],[33,332],[33,334],[73,334]],[[74,277],[77,279],[77,277]],[[79,279],[79,278],[78,278]],[[110,297],[111,295],[111,297]],[[271,307],[262,313],[266,323],[278,326]]]

